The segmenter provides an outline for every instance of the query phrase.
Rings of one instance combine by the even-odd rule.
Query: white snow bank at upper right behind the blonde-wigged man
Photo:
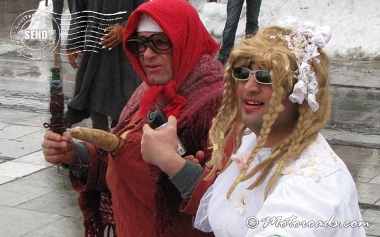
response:
[[[190,0],[207,30],[220,41],[225,25],[227,0],[205,3]],[[380,59],[380,1],[378,0],[277,0],[262,1],[259,27],[273,25],[281,16],[292,15],[315,25],[331,26],[331,40],[325,47],[330,57]],[[236,33],[244,35],[245,3]]]

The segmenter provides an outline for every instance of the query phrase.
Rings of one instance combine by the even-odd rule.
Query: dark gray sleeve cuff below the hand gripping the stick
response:
[[[88,150],[86,143],[76,141],[74,143],[74,155],[71,164],[62,164],[62,167],[69,169],[75,177],[86,180],[89,160],[90,151]]]

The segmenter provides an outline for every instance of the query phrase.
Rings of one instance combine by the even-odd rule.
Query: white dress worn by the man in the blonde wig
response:
[[[265,201],[264,190],[270,176],[253,190],[246,187],[257,176],[241,182],[228,200],[227,191],[238,178],[241,164],[255,142],[253,134],[243,137],[231,165],[201,199],[196,228],[223,237],[366,236],[364,227],[339,227],[346,221],[362,221],[362,216],[351,174],[322,135],[299,159],[284,166]],[[270,148],[260,150],[249,170],[269,155]]]

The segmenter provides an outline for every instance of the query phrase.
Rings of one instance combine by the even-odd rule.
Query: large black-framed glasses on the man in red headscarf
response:
[[[151,48],[155,53],[168,53],[172,48],[169,38],[163,33],[155,33],[149,37],[134,36],[125,43],[133,55],[140,57],[147,48]]]

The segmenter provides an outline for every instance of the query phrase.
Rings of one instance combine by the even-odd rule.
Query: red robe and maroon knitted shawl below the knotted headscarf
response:
[[[189,154],[203,150],[206,160],[211,156],[211,151],[207,149],[210,146],[207,136],[212,118],[221,103],[222,77],[218,61],[205,55],[179,89],[187,101],[177,118],[179,137]],[[201,180],[189,203],[181,204],[181,196],[170,180],[157,167],[142,160],[140,140],[142,126],[146,122],[136,113],[136,101],[147,88],[145,83],[138,87],[113,131],[121,135],[129,130],[123,147],[114,157],[108,155],[107,158],[99,159],[99,150],[88,144],[91,158],[87,182],[71,176],[73,186],[81,192],[79,204],[88,220],[87,225],[85,220],[86,229],[97,232],[99,227],[94,221],[101,217],[99,203],[101,206],[106,204],[94,199],[109,198],[109,190],[112,193],[118,236],[212,236],[193,229],[192,217],[213,180]],[[205,169],[205,173],[209,171]],[[102,195],[99,195],[99,191]],[[103,213],[104,216],[107,217]],[[91,229],[94,225],[95,228]]]

